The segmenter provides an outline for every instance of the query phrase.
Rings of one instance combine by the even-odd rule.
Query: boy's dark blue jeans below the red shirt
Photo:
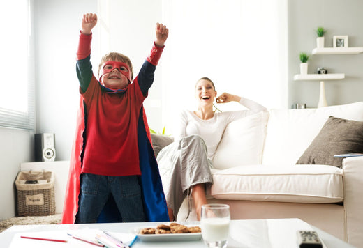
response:
[[[122,222],[145,222],[138,176],[101,176],[82,173],[75,223],[96,223],[105,203],[113,196]]]

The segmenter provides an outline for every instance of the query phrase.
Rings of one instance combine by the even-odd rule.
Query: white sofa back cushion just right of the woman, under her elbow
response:
[[[261,111],[229,123],[214,154],[213,167],[261,164],[268,116],[268,112]]]

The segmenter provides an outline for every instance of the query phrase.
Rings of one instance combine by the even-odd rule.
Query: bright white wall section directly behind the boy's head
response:
[[[100,54],[120,52],[128,56],[133,63],[135,78],[155,41],[156,22],[163,22],[162,0],[107,0],[101,1],[100,8],[100,25],[94,32],[100,36],[98,37]],[[170,43],[167,41],[165,46],[165,49],[169,49]],[[98,61],[95,61],[94,66],[98,66]],[[163,128],[161,111],[163,68],[163,56],[161,56],[154,83],[144,102],[149,127],[159,132]]]

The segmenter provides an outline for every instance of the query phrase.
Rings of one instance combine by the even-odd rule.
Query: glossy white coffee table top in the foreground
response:
[[[20,239],[21,233],[38,233],[44,231],[58,231],[67,233],[74,229],[96,228],[110,232],[130,233],[131,230],[140,226],[156,226],[161,222],[143,222],[143,223],[112,223],[112,224],[74,224],[74,225],[29,225],[29,226],[12,226],[3,233],[0,233],[0,246],[15,247],[15,245],[24,245],[24,239]],[[199,224],[199,222],[188,222],[185,224]],[[310,226],[301,219],[247,219],[232,220],[230,226],[230,237],[228,239],[229,248],[258,247],[258,248],[292,248],[297,247],[296,231],[297,230],[315,230],[325,243],[327,248],[353,247],[343,240],[339,240],[329,233],[325,233],[318,228]],[[12,243],[13,242],[13,243]],[[26,247],[71,247],[71,242],[57,243],[27,240]],[[77,245],[81,247],[96,247],[84,243]],[[192,240],[184,242],[142,242],[138,240],[132,248],[140,247],[206,247],[203,240]]]

